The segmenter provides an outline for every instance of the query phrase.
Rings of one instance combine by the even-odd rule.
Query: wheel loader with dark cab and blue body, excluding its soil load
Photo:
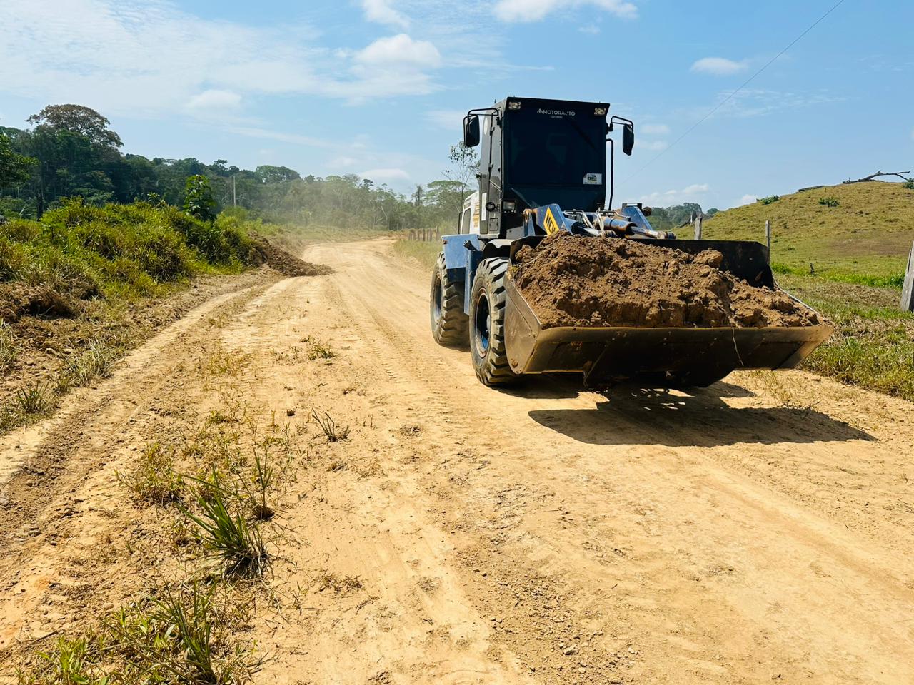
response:
[[[479,188],[466,198],[457,232],[441,237],[430,292],[434,339],[469,346],[484,385],[572,373],[591,387],[624,380],[707,386],[736,369],[799,364],[832,332],[829,326],[542,326],[515,287],[511,267],[521,248],[536,249],[559,231],[690,254],[714,249],[723,255],[720,269],[750,285],[777,289],[768,249],[760,243],[678,239],[651,227],[648,207],[612,208],[611,133],[619,129],[622,152],[631,155],[634,123],[610,115],[606,102],[507,98],[467,112],[463,142],[481,145]]]

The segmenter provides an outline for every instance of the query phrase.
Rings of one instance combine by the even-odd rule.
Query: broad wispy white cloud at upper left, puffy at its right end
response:
[[[210,20],[171,0],[3,4],[16,21],[0,22],[0,92],[85,102],[109,116],[201,116],[258,93],[423,94],[436,89],[430,71],[441,64],[435,46],[405,34],[340,58],[307,26]]]

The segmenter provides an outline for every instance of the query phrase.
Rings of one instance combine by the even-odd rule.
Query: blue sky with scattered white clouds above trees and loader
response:
[[[914,167],[911,2],[845,0],[670,147],[835,1],[0,0],[0,124],[76,102],[124,152],[409,191],[468,108],[606,100],[617,199],[728,207]]]

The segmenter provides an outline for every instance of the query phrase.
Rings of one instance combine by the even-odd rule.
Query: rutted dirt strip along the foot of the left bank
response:
[[[0,454],[10,475],[0,507],[0,653],[27,629],[39,605],[48,606],[45,616],[62,619],[58,606],[70,606],[87,588],[101,589],[99,578],[111,585],[125,571],[123,564],[113,571],[106,557],[114,543],[106,537],[111,520],[123,510],[116,469],[157,435],[173,432],[175,414],[192,411],[177,371],[267,287],[207,300],[130,353],[110,379],[72,393],[37,427],[3,438]]]

